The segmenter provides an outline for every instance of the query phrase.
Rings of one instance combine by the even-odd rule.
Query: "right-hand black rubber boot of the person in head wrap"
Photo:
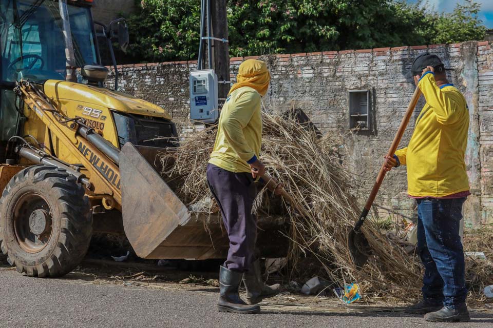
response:
[[[247,289],[247,304],[257,304],[264,298],[276,296],[281,289],[278,283],[271,286],[263,283],[259,259],[253,262],[250,270],[243,275],[243,283]]]

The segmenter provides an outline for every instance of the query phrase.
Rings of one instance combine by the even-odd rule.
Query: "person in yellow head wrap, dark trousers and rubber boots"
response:
[[[279,293],[280,286],[267,286],[255,252],[256,217],[252,214],[256,180],[265,173],[259,160],[262,143],[260,98],[267,93],[270,73],[266,63],[248,59],[239,67],[237,83],[221,110],[207,182],[216,199],[230,239],[227,259],[220,268],[219,312],[258,313],[256,303]],[[243,280],[247,302],[238,288]]]

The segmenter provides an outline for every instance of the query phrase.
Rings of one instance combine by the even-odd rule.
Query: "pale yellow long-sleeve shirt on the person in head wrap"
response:
[[[226,99],[209,162],[230,172],[250,172],[262,144],[260,94],[241,87]]]

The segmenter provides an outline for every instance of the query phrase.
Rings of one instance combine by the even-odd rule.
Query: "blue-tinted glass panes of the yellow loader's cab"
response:
[[[69,2],[75,66],[100,64],[90,4]],[[85,5],[85,6],[83,6]],[[0,0],[2,79],[65,80],[63,20],[52,0]]]

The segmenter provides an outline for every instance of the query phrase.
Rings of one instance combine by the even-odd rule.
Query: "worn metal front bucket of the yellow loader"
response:
[[[130,244],[147,259],[226,258],[229,240],[220,216],[188,211],[154,169],[159,168],[156,156],[162,151],[130,143],[122,147],[122,215]],[[286,256],[286,223],[282,218],[258,218],[257,247],[262,256]]]

